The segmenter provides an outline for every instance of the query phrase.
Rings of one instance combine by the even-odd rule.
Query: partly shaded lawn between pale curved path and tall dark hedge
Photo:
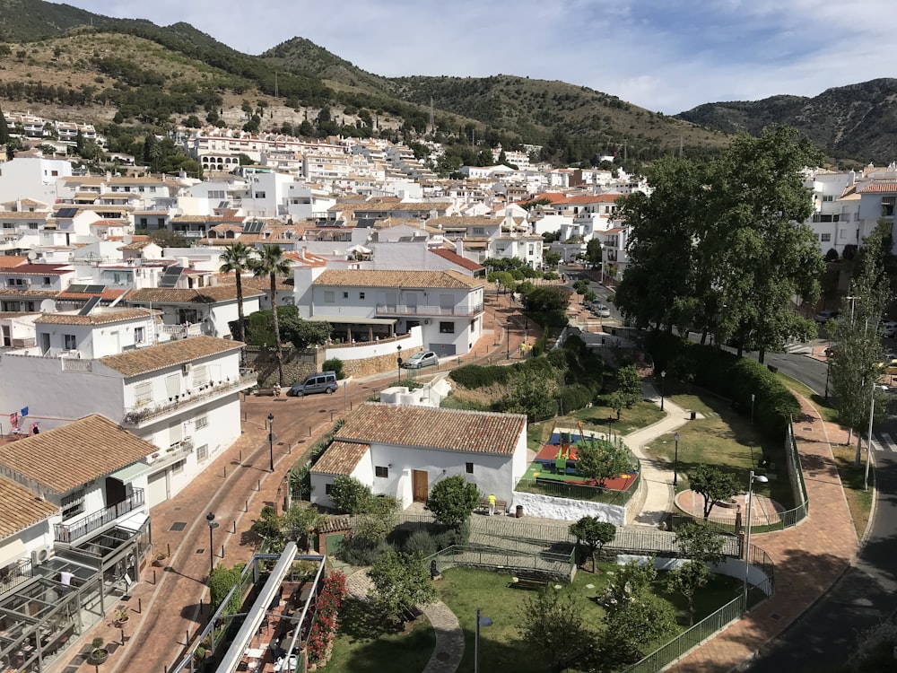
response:
[[[763,455],[779,466],[784,466],[782,441],[771,440],[759,433],[749,418],[739,415],[724,399],[710,394],[670,397],[675,404],[696,411],[703,418],[689,421],[678,429],[679,433],[679,485],[677,491],[688,488],[687,473],[704,463],[736,476],[747,487],[748,472],[757,466]],[[675,437],[673,433],[661,435],[644,449],[649,456],[663,459],[673,468],[675,462]],[[784,468],[779,478],[767,484],[756,483],[756,493],[767,495],[786,510],[794,507],[794,498]]]

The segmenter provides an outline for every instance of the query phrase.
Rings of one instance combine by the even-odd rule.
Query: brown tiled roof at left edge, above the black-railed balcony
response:
[[[179,342],[181,343],[181,342]],[[0,466],[57,494],[125,468],[158,449],[99,414],[0,446]]]

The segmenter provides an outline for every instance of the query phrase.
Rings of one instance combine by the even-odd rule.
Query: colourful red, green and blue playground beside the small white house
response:
[[[609,441],[600,433],[584,433],[579,426],[579,433],[568,430],[555,430],[536,458],[527,468],[524,478],[540,482],[555,481],[568,485],[597,486],[596,479],[587,479],[580,475],[576,468],[577,451],[584,444],[607,445]],[[638,482],[638,471],[605,479],[604,488],[612,491],[626,491]]]

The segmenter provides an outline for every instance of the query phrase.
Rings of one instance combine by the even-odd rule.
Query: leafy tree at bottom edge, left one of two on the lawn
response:
[[[553,588],[527,597],[520,608],[520,631],[525,642],[538,642],[536,650],[544,657],[546,670],[556,670],[561,657],[592,642],[583,608],[572,594]]]

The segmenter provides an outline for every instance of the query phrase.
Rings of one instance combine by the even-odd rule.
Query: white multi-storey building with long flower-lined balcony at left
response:
[[[215,337],[159,343],[158,311],[45,314],[36,344],[0,357],[4,414],[28,408],[19,424],[42,432],[101,414],[157,447],[147,503],[187,485],[240,434],[239,393],[256,383],[239,368],[243,344]]]

